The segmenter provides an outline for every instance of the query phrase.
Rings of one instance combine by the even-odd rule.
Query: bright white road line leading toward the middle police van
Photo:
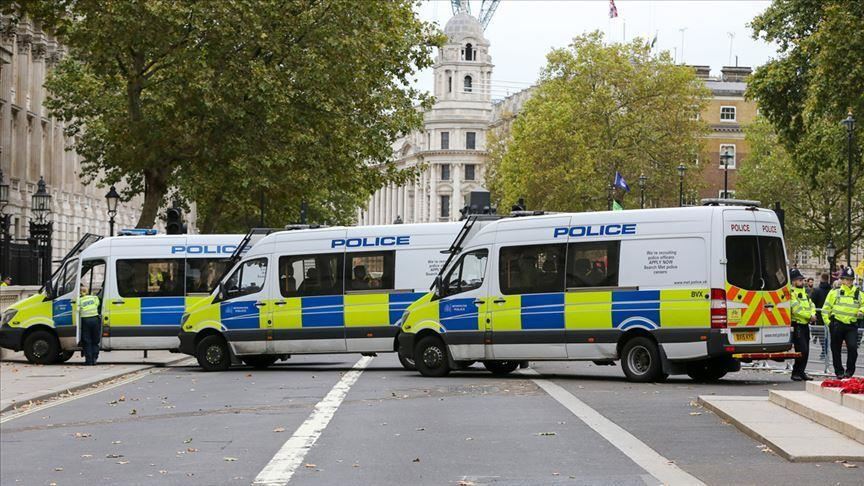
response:
[[[291,476],[294,475],[294,472],[303,462],[303,458],[306,457],[306,453],[321,437],[333,415],[336,414],[336,410],[342,404],[345,396],[348,395],[348,391],[351,390],[351,387],[360,378],[360,374],[363,373],[363,369],[369,366],[372,359],[372,356],[360,358],[354,363],[353,369],[345,373],[342,379],[333,385],[330,392],[315,405],[306,421],[297,427],[294,435],[285,441],[279,452],[258,473],[255,482],[252,483],[253,485],[282,486],[288,484]]]

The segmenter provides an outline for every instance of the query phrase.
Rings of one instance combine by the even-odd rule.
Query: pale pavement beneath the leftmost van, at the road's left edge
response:
[[[0,413],[37,403],[130,373],[175,363],[188,356],[167,351],[108,351],[96,366],[84,366],[80,353],[62,365],[32,365],[24,353],[9,353],[0,361]]]

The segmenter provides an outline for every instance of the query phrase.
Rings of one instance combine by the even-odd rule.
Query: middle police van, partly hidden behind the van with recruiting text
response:
[[[180,350],[205,370],[233,358],[396,350],[396,322],[430,288],[459,223],[307,228],[254,243],[183,316]],[[407,361],[403,365],[410,367]]]

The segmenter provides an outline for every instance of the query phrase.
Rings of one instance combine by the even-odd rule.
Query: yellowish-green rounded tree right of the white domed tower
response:
[[[547,55],[512,130],[493,135],[490,190],[505,207],[525,197],[531,208],[602,210],[616,171],[631,184],[644,172],[654,204],[677,205],[675,168],[694,168],[706,96],[691,68],[644,41],[579,36]]]

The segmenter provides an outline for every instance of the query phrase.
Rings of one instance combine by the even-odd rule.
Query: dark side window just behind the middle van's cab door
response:
[[[279,292],[283,297],[341,295],[342,253],[279,257]]]

